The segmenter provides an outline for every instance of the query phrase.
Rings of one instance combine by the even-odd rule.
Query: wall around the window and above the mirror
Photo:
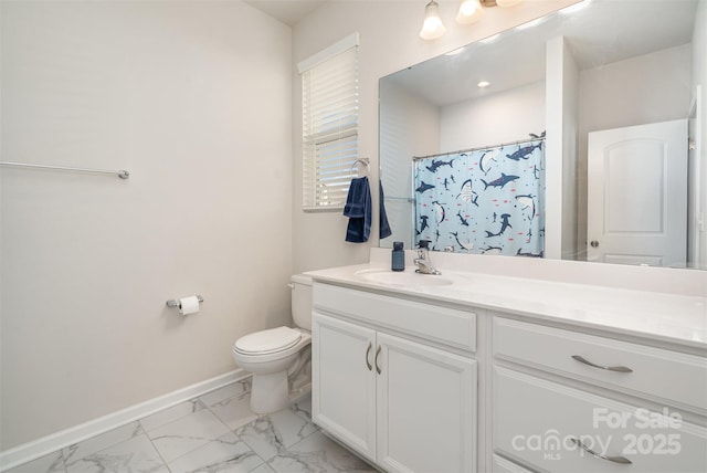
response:
[[[315,54],[341,38],[360,33],[360,128],[359,154],[370,157],[372,178],[378,178],[378,80],[384,75],[425,61],[464,44],[493,35],[499,31],[541,17],[574,0],[526,1],[509,9],[490,8],[476,24],[455,24],[457,0],[441,0],[440,11],[447,28],[444,36],[423,41],[419,36],[424,3],[412,0],[355,1],[340,0],[325,3],[293,30],[294,62]],[[302,82],[293,71],[293,129],[294,129],[294,182],[293,201],[293,265],[295,271],[313,270],[368,261],[369,245],[378,245],[372,238],[369,244],[346,243],[346,219],[340,212],[302,211]],[[373,209],[378,207],[377,189],[373,189]],[[377,216],[377,212],[374,213]],[[373,217],[373,235],[378,234],[377,217]]]

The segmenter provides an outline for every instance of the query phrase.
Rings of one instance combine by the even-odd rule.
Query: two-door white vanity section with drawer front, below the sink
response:
[[[386,471],[475,472],[475,314],[313,291],[314,421]]]

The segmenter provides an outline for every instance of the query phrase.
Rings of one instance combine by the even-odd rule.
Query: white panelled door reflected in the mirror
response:
[[[687,120],[589,134],[587,257],[685,266]]]

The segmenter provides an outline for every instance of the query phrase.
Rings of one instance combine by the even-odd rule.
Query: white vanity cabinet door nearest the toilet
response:
[[[315,312],[312,335],[315,423],[376,461],[376,332]]]

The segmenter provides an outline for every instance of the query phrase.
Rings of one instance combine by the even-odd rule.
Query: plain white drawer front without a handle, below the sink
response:
[[[313,305],[464,350],[476,349],[476,314],[315,283]]]

